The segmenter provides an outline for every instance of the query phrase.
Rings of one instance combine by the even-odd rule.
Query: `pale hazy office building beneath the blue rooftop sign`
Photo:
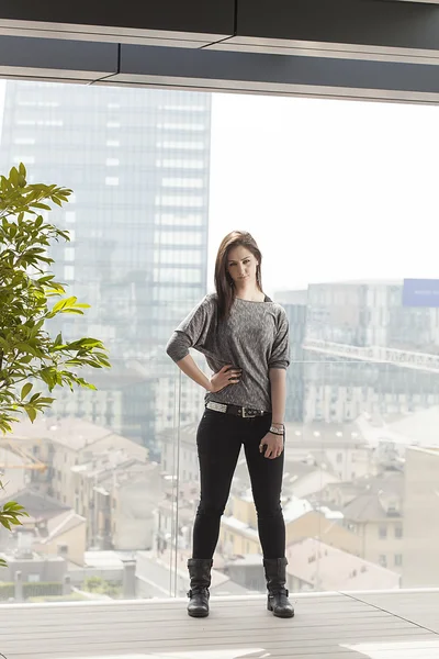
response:
[[[307,421],[349,422],[439,403],[439,310],[403,305],[402,282],[311,284]]]

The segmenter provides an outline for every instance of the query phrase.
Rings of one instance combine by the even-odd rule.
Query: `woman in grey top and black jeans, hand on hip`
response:
[[[216,257],[216,294],[202,300],[167,346],[177,366],[207,392],[196,435],[201,495],[188,561],[193,617],[209,615],[212,558],[241,445],[258,514],[268,610],[278,617],[294,615],[285,589],[280,503],[289,326],[284,310],[262,292],[261,261],[249,233],[228,234]],[[190,356],[191,347],[205,355],[211,379]]]

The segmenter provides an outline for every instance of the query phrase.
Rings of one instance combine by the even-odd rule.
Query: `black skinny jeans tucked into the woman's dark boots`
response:
[[[211,559],[219,535],[221,516],[244,444],[251,490],[258,515],[259,539],[264,558],[285,555],[285,524],[281,509],[283,453],[270,460],[259,444],[271,424],[271,415],[241,418],[206,410],[200,422],[196,445],[201,496],[193,527],[193,558]]]

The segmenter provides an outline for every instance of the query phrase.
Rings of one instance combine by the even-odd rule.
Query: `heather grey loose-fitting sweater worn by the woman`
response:
[[[217,326],[216,293],[206,295],[177,327],[167,353],[177,362],[189,348],[202,353],[213,372],[227,364],[243,369],[238,384],[206,393],[206,402],[271,412],[269,369],[286,369],[290,364],[289,323],[280,304],[269,298],[264,302],[237,298],[229,317]]]

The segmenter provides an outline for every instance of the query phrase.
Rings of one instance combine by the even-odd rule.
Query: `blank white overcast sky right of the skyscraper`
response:
[[[436,107],[214,94],[210,286],[234,228],[259,242],[269,293],[438,277],[438,120]]]

